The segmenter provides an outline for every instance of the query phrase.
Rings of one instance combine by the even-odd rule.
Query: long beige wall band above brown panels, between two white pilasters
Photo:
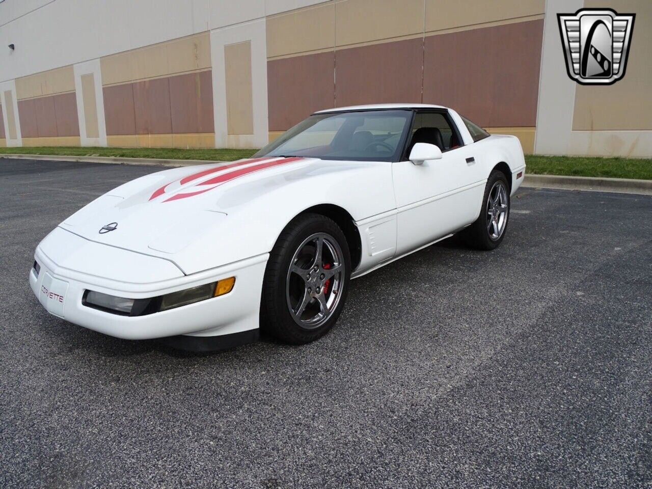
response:
[[[204,70],[211,67],[209,33],[107,56],[100,65],[102,85]]]

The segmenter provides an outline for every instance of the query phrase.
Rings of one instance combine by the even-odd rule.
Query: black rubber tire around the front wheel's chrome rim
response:
[[[314,290],[318,290],[323,294],[323,297],[328,297],[331,300],[333,299],[333,309],[328,311],[327,314],[324,314],[324,317],[321,319],[323,323],[316,321],[314,327],[308,327],[303,323],[302,317],[295,317],[293,312],[291,312],[291,290],[297,290],[297,280],[299,281],[299,288],[303,287],[303,291],[299,291],[299,294],[303,294],[308,291],[308,281],[303,280],[303,277],[299,278],[297,273],[296,277],[290,272],[290,267],[293,266],[296,269],[297,263],[299,261],[293,262],[297,254],[301,253],[302,249],[305,249],[306,246],[310,247],[313,242],[308,242],[306,240],[311,239],[315,235],[321,235],[324,242],[328,242],[331,246],[335,246],[336,254],[341,252],[341,256],[337,260],[333,260],[334,263],[340,263],[343,265],[344,269],[341,273],[333,276],[332,284],[337,284],[337,287],[329,291],[325,291],[324,283],[321,283],[321,289],[319,287]],[[331,239],[336,243],[331,243]],[[319,241],[314,241],[314,243],[319,243]],[[316,249],[316,246],[314,246]],[[330,253],[330,249],[326,246],[326,252],[323,252],[323,256],[327,256]],[[335,253],[334,253],[335,254]],[[334,256],[333,254],[333,256]],[[303,256],[303,255],[301,255]],[[301,258],[300,256],[300,258]],[[324,258],[325,259],[325,258]],[[305,272],[309,275],[312,273],[312,268],[308,261],[314,265],[318,259],[313,257],[306,260],[306,265],[308,269]],[[319,259],[321,261],[321,259]],[[299,263],[301,265],[301,263]],[[302,265],[302,266],[306,266]],[[321,267],[321,263],[319,267]],[[326,267],[326,265],[324,265]],[[333,269],[336,267],[333,266]],[[302,268],[303,270],[303,268]],[[324,272],[320,270],[319,273]],[[318,280],[318,273],[315,273],[316,276],[312,277],[312,280]],[[326,334],[334,323],[337,321],[342,309],[344,308],[344,303],[346,302],[346,295],[349,289],[349,278],[351,275],[351,256],[349,254],[349,247],[344,237],[344,233],[340,227],[330,218],[319,214],[306,213],[299,215],[294,218],[288,226],[280,233],[274,248],[272,248],[271,253],[269,254],[269,260],[267,261],[267,268],[265,269],[265,276],[263,278],[263,291],[261,295],[261,306],[260,306],[260,327],[263,333],[270,334],[289,344],[305,344],[321,338]],[[337,280],[337,282],[336,282]],[[330,282],[329,282],[330,283]],[[313,284],[314,286],[315,284]],[[319,284],[317,284],[319,286]],[[321,297],[319,294],[319,297]],[[333,295],[335,294],[335,295]],[[304,295],[304,297],[307,297]],[[306,316],[310,315],[312,310],[322,310],[320,308],[319,299],[309,299],[310,303],[308,306],[311,308],[308,309],[308,306],[305,306]],[[325,299],[326,300],[326,299]],[[297,306],[298,310],[301,306]],[[302,310],[303,311],[303,310]],[[321,313],[317,313],[319,315]]]

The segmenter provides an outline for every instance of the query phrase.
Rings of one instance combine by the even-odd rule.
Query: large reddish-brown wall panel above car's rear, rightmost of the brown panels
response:
[[[482,126],[534,126],[542,35],[533,20],[426,37],[423,102]]]

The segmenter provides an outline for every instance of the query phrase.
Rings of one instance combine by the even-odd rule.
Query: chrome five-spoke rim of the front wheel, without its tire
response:
[[[289,312],[303,329],[316,329],[336,310],[344,287],[344,259],[328,233],[304,239],[292,257],[286,280]]]

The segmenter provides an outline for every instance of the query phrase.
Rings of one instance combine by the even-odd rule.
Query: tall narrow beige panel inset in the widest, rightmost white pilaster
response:
[[[227,134],[254,133],[251,42],[224,46]]]

